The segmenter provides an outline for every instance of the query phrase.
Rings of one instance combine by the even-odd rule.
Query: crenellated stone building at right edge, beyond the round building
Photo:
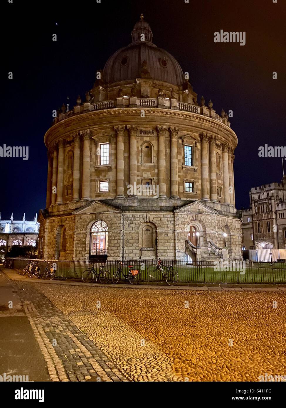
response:
[[[242,210],[245,249],[286,249],[286,175],[280,183],[251,188]]]

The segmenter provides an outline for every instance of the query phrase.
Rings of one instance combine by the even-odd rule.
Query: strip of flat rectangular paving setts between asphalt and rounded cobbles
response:
[[[14,282],[14,287],[47,363],[51,381],[128,381],[31,281]]]

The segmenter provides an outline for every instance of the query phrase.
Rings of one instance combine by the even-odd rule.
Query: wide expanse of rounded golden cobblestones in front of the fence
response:
[[[33,285],[131,381],[286,375],[283,291]]]

